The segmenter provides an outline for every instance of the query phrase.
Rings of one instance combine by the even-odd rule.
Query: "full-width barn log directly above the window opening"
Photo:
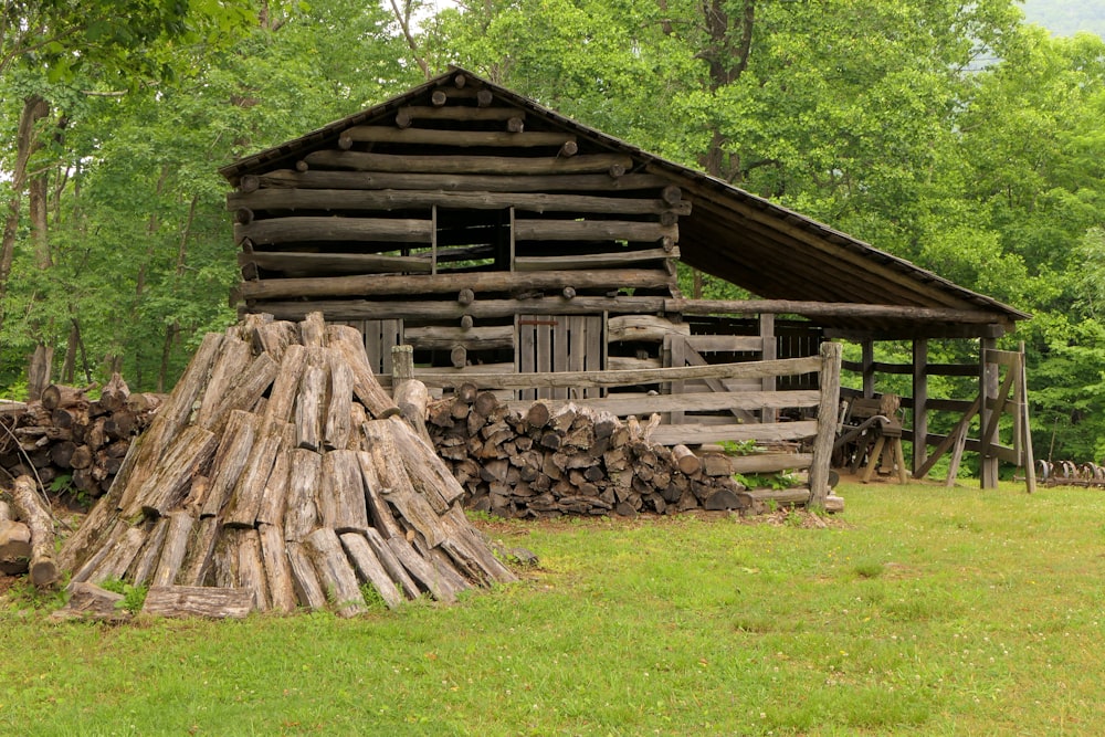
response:
[[[506,210],[526,212],[589,212],[602,214],[691,214],[691,203],[671,206],[661,199],[596,197],[588,194],[549,194],[545,192],[448,191],[444,189],[261,189],[231,193],[227,208],[253,210],[340,210],[379,211],[411,208],[450,208],[455,210]],[[600,254],[601,255],[601,254]],[[671,255],[661,252],[653,257]]]

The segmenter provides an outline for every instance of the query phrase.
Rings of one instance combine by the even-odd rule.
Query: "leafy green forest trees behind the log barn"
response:
[[[450,63],[1032,313],[1036,457],[1105,456],[1105,42],[1014,0],[4,3],[0,396],[171,388],[235,319],[217,168]]]

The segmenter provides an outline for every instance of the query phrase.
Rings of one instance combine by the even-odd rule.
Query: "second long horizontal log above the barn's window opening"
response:
[[[581,157],[576,157],[579,159]],[[667,179],[656,175],[630,173],[613,178],[602,173],[532,175],[526,177],[501,177],[483,175],[412,173],[403,170],[406,157],[392,157],[386,161],[394,172],[379,171],[306,171],[277,169],[256,177],[257,187],[297,189],[418,189],[442,190],[446,192],[587,192],[587,191],[636,191],[659,190]],[[619,166],[614,164],[612,166]],[[632,166],[632,164],[630,164]],[[598,166],[596,171],[600,169]],[[243,188],[244,191],[244,188]],[[255,191],[255,190],[254,190]]]

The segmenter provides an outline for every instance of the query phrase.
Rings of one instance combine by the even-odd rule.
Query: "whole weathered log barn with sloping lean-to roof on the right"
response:
[[[1000,375],[988,357],[1028,317],[457,67],[220,172],[234,188],[242,312],[320,310],[352,325],[385,382],[392,348],[409,345],[430,386],[494,373],[518,401],[660,411],[665,442],[793,419],[783,412],[793,403],[769,394],[810,394],[817,373],[659,383],[629,373],[618,388],[525,377],[812,357],[822,341],[849,340],[862,346],[860,361],[845,361],[862,377],[856,393],[875,396],[880,370],[912,375],[905,436],[920,449],[917,471],[928,445],[948,441],[927,432],[928,412],[970,409],[927,397],[927,377],[943,370],[928,366],[928,340],[978,341],[978,362],[949,370],[978,377],[989,430]],[[681,262],[750,298],[682,294]],[[913,365],[876,364],[878,340],[912,340]],[[804,412],[817,407],[807,400]],[[967,448],[996,470],[993,433]]]

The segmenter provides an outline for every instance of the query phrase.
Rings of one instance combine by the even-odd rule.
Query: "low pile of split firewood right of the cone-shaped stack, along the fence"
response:
[[[650,442],[659,415],[623,422],[543,400],[512,412],[471,385],[432,402],[427,415],[438,452],[467,492],[466,504],[497,516],[632,516],[753,503],[725,455]]]

